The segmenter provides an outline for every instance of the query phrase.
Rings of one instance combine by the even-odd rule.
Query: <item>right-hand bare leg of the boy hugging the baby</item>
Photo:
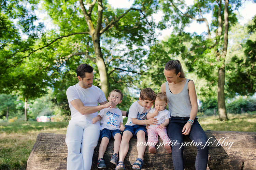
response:
[[[142,160],[144,160],[144,152],[146,149],[146,145],[144,145],[144,143],[146,143],[146,139],[145,139],[145,132],[144,131],[139,131],[137,133],[137,142],[139,143],[143,143],[143,145],[137,145],[137,151],[138,151],[138,158],[141,158]],[[138,160],[136,161],[137,163],[140,163]],[[133,167],[135,168],[140,168],[139,165],[134,165]]]

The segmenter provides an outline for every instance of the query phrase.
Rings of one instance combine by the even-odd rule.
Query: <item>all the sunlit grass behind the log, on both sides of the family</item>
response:
[[[256,114],[229,114],[228,118],[199,116],[198,121],[204,130],[256,132]],[[38,134],[66,134],[67,126],[68,122],[0,122],[0,170],[26,170]]]

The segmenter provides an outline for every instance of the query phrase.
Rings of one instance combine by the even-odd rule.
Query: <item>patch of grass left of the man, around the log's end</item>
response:
[[[39,133],[66,134],[68,122],[1,122],[0,170],[26,170]]]

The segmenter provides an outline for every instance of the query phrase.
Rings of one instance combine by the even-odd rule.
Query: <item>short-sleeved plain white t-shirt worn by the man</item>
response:
[[[98,106],[98,103],[102,103],[106,101],[106,97],[103,91],[97,87],[92,85],[89,88],[82,88],[78,83],[70,86],[67,89],[67,98],[69,102],[69,108],[71,111],[71,120],[70,122],[81,122],[87,121],[89,123],[93,123],[92,119],[98,115],[98,112],[89,114],[89,115],[82,115],[78,112],[70,102],[75,99],[80,99],[84,106]],[[97,122],[99,124],[99,122]]]

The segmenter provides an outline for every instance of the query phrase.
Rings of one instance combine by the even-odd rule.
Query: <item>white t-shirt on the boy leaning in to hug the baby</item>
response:
[[[136,118],[138,120],[145,120],[147,117],[147,113],[150,111],[150,109],[146,109],[145,107],[141,106],[138,103],[139,100],[136,102],[132,103],[132,105],[129,108],[129,115],[128,115],[128,120],[125,125],[128,126],[133,126],[135,124],[132,123],[131,118]]]

